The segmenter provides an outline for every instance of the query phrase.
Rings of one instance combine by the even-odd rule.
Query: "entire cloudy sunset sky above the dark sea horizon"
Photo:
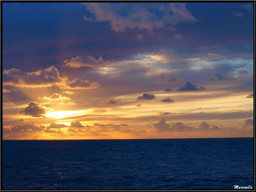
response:
[[[3,2],[3,139],[253,137],[253,2]]]

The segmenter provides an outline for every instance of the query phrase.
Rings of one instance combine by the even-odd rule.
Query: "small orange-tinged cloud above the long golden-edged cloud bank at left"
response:
[[[66,59],[63,66],[67,66],[70,68],[81,68],[81,67],[90,67],[90,68],[97,68],[101,66],[106,66],[110,64],[110,61],[99,57],[99,59],[95,59],[92,56],[77,56],[71,59]]]

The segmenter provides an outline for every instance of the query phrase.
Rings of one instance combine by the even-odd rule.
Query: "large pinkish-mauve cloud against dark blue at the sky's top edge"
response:
[[[96,21],[108,21],[115,32],[128,29],[144,29],[152,31],[154,28],[164,28],[166,24],[178,24],[184,21],[194,22],[195,18],[185,3],[166,3],[161,6],[161,17],[159,7],[147,7],[147,4],[134,4],[127,12],[127,3],[83,3],[92,12]],[[141,5],[141,6],[140,6]],[[156,4],[157,5],[157,4]]]

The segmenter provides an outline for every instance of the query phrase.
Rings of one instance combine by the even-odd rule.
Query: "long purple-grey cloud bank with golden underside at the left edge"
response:
[[[31,73],[21,73],[18,69],[5,70],[3,85],[32,88],[57,85],[64,89],[94,89],[100,86],[97,82],[91,83],[81,78],[69,81],[65,75],[60,76],[58,69],[53,65]]]

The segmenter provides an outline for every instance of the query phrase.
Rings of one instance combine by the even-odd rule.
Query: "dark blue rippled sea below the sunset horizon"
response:
[[[254,186],[253,138],[4,140],[3,189],[197,190]]]

